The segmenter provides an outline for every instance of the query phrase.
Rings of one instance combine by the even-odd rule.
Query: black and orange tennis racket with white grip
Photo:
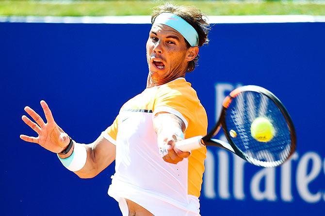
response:
[[[228,142],[212,139],[221,127]],[[259,86],[233,90],[224,100],[220,118],[204,137],[184,139],[176,148],[189,152],[218,146],[261,167],[276,167],[294,152],[296,135],[286,108],[277,97]]]

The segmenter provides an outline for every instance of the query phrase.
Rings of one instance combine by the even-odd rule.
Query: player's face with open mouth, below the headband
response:
[[[149,74],[155,83],[182,77],[188,65],[188,49],[184,37],[173,28],[153,25],[146,43]]]

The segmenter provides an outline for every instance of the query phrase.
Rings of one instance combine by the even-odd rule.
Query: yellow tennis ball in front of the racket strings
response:
[[[274,137],[274,127],[265,117],[256,118],[250,126],[252,137],[260,142],[268,142]]]

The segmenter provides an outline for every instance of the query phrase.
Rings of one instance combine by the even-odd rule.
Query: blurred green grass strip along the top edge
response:
[[[150,15],[162,0],[0,0],[0,15]],[[170,0],[206,15],[325,15],[325,0]]]

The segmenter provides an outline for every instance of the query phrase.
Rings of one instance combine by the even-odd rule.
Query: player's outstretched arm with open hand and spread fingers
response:
[[[69,152],[62,154],[71,146],[71,139],[54,121],[48,104],[41,101],[41,106],[47,123],[32,108],[25,107],[25,111],[33,118],[34,122],[26,115],[22,116],[22,120],[38,134],[38,137],[20,135],[21,139],[37,143],[53,153],[58,153],[65,167],[73,170],[80,178],[96,176],[115,160],[115,145],[102,136],[88,145],[73,141]]]

